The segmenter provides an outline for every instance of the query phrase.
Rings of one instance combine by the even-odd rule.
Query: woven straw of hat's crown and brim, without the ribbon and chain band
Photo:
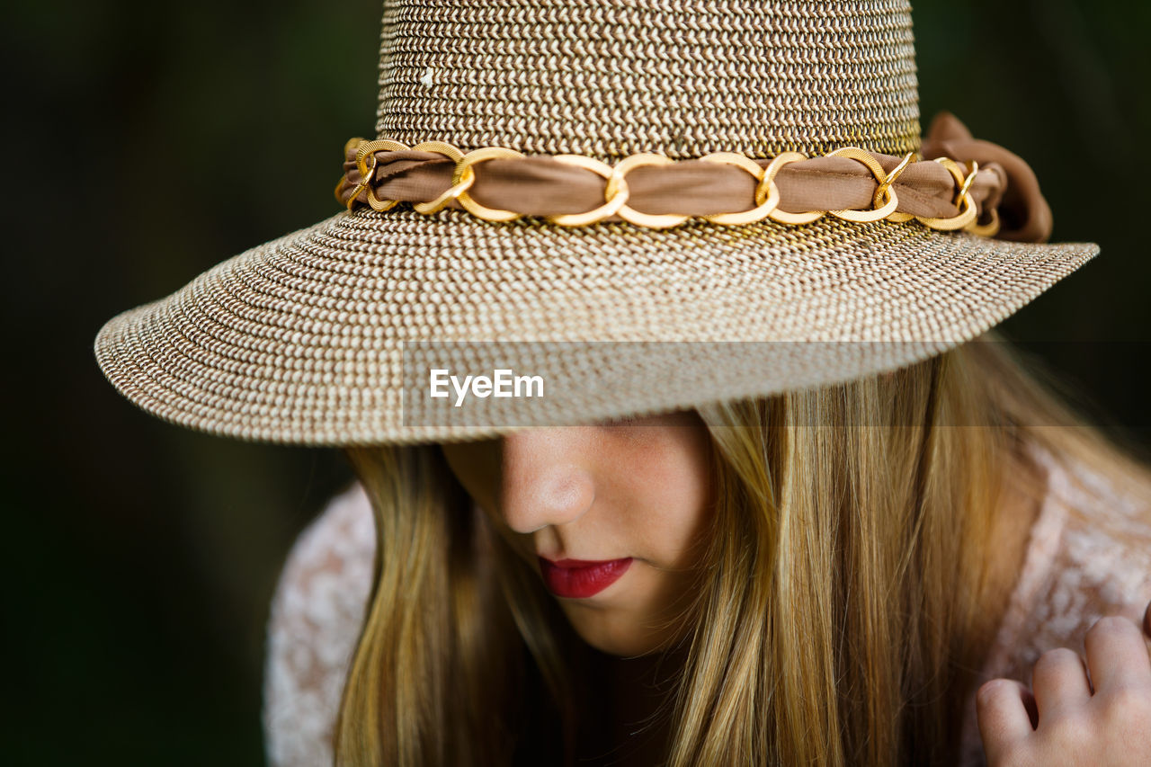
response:
[[[379,134],[604,160],[918,145],[906,2],[637,5],[389,2]],[[471,439],[892,370],[977,336],[1096,252],[915,222],[563,228],[358,210],[114,318],[96,352],[132,402],[215,434]],[[413,422],[412,341],[460,342],[464,373],[490,372],[478,369],[493,362],[485,341],[623,343],[599,357],[525,344],[497,360],[587,377],[517,419],[494,408]],[[727,355],[704,343],[733,341],[756,343]]]

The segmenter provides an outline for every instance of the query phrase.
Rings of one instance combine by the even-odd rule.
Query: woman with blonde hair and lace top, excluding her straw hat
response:
[[[988,335],[811,392],[350,450],[367,495],[343,510],[364,536],[371,499],[375,541],[349,549],[329,511],[285,569],[273,755],[296,764],[294,736],[331,726],[320,706],[310,730],[287,699],[322,681],[276,667],[333,653],[341,632],[352,643],[355,612],[326,640],[304,620],[322,577],[329,594],[374,588],[335,728],[342,764],[975,764],[976,688],[1030,681],[1038,652],[1087,639],[1092,681],[1111,660],[1145,684],[1130,618],[1151,598],[1151,476]],[[1060,601],[1052,633],[1039,622]],[[1116,614],[1126,629],[1096,623]],[[1084,703],[1085,675],[1067,650],[1039,661],[1038,713],[1020,682],[980,688],[990,762],[1011,764],[1000,752],[1023,721],[1035,747],[1062,750],[1036,764],[1141,764],[1145,737],[1106,761],[1049,735],[1060,720],[1043,714]],[[1145,723],[1141,700],[1129,713]]]

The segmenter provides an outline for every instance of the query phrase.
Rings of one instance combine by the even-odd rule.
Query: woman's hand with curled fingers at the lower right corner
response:
[[[1143,631],[1121,616],[1087,633],[1087,666],[1060,648],[1039,656],[1034,691],[991,679],[976,693],[988,765],[1151,765],[1151,605]],[[1090,678],[1088,673],[1090,671]]]

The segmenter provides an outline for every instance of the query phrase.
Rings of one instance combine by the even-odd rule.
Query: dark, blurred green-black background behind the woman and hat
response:
[[[1006,321],[1146,445],[1148,3],[915,8],[924,126],[1024,157],[1103,253]],[[6,764],[252,765],[264,624],[336,450],[162,424],[92,355],[113,314],[337,211],[374,128],[379,0],[12,3],[3,137]]]

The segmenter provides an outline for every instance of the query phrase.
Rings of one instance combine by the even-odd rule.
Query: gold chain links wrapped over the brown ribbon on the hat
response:
[[[487,160],[519,159],[525,157],[514,150],[498,146],[486,146],[483,149],[472,150],[471,152],[465,153],[451,144],[444,144],[442,142],[425,142],[422,144],[417,144],[416,146],[407,146],[399,142],[389,139],[368,142],[361,138],[352,138],[344,147],[345,157],[353,149],[356,150],[356,168],[359,170],[360,180],[359,183],[357,183],[352,189],[351,197],[348,199],[348,210],[351,210],[355,206],[356,198],[365,189],[367,190],[368,205],[371,205],[373,210],[387,211],[398,205],[399,200],[378,199],[374,190],[372,189],[372,176],[375,173],[378,162],[375,152],[412,150],[417,152],[433,152],[442,154],[456,164],[456,168],[451,177],[451,187],[434,200],[428,203],[413,203],[412,207],[414,207],[417,212],[425,214],[436,213],[455,199],[468,213],[479,219],[483,219],[485,221],[511,221],[523,215],[514,211],[486,207],[477,203],[471,195],[467,193],[467,190],[475,183],[474,167],[478,164]],[[966,229],[985,237],[992,237],[999,230],[999,217],[994,210],[991,210],[990,212],[991,221],[989,223],[980,225],[976,221],[977,211],[975,200],[971,199],[970,190],[971,184],[975,182],[975,176],[980,172],[977,162],[973,161],[970,170],[965,172],[965,168],[951,158],[942,157],[935,160],[945,167],[954,180],[956,189],[954,205],[960,211],[958,215],[950,219],[936,219],[923,215],[913,215],[910,213],[900,213],[897,211],[899,207],[899,197],[895,195],[895,180],[899,179],[900,174],[902,174],[904,170],[907,169],[907,166],[910,165],[915,157],[914,152],[904,157],[904,159],[891,170],[891,173],[883,169],[883,166],[879,165],[879,161],[874,154],[857,146],[839,149],[833,152],[829,152],[825,157],[843,157],[855,160],[871,173],[878,184],[872,198],[871,208],[808,211],[803,213],[780,211],[780,195],[779,188],[776,185],[776,176],[785,166],[794,162],[802,162],[803,160],[808,160],[810,158],[800,152],[784,152],[773,158],[771,162],[764,167],[755,160],[735,152],[715,152],[700,159],[706,162],[730,165],[740,168],[755,179],[756,206],[748,211],[715,213],[699,218],[721,226],[744,226],[755,223],[764,219],[771,219],[777,223],[785,223],[788,226],[801,226],[817,221],[824,215],[833,215],[845,221],[853,221],[856,223],[869,223],[881,220],[902,222],[915,219],[923,226],[931,229],[940,231]],[[371,164],[368,162],[368,158],[371,158]],[[551,223],[565,227],[582,227],[599,223],[604,219],[616,215],[624,221],[637,226],[654,229],[666,229],[670,227],[677,227],[693,218],[674,213],[643,213],[627,205],[627,200],[631,196],[631,191],[627,187],[627,174],[635,168],[671,165],[674,160],[669,157],[651,153],[633,154],[620,160],[615,166],[610,166],[594,158],[580,154],[558,154],[554,155],[551,159],[557,162],[563,162],[564,165],[571,165],[585,170],[590,170],[602,177],[605,182],[603,190],[603,205],[585,213],[549,215],[547,217],[547,220]],[[341,191],[345,185],[346,177],[341,179],[340,184],[336,185],[337,199],[342,199]]]

